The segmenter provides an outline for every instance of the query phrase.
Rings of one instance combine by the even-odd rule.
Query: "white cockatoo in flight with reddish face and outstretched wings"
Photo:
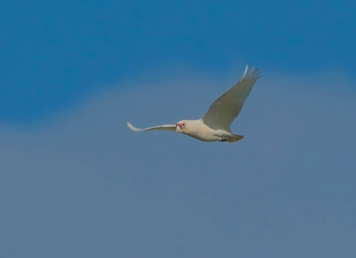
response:
[[[253,85],[261,77],[258,68],[247,73],[248,65],[241,79],[229,90],[217,98],[204,117],[197,120],[180,120],[177,124],[163,124],[155,127],[139,129],[127,122],[133,131],[168,130],[176,131],[201,141],[236,142],[244,138],[243,135],[232,134],[230,124],[239,115],[242,105],[250,94]]]

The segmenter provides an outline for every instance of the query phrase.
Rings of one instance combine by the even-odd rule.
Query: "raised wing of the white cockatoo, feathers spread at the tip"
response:
[[[248,66],[240,81],[211,104],[203,117],[204,124],[219,127],[231,133],[230,124],[239,115],[253,84],[261,77],[261,72],[257,73],[258,69],[253,70],[254,67],[246,74],[247,68]]]

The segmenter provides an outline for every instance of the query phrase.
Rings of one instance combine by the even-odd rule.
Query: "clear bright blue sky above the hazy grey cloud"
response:
[[[354,78],[354,1],[1,1],[0,120],[26,124],[87,94],[184,67],[257,65]],[[116,84],[116,87],[122,87]]]

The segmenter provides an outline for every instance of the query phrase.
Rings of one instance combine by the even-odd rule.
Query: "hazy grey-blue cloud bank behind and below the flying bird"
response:
[[[239,76],[125,82],[38,128],[3,126],[0,254],[355,254],[354,84],[268,74],[232,124],[238,143],[126,121],[198,119]]]

